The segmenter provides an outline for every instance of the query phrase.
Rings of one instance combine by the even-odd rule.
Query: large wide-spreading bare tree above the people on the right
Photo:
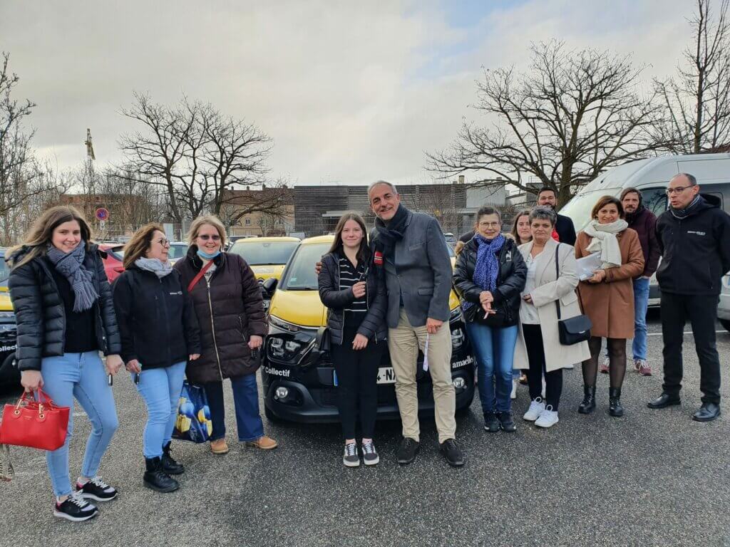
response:
[[[526,74],[485,69],[473,107],[491,128],[465,121],[450,148],[427,153],[431,171],[485,171],[525,191],[534,176],[562,206],[604,169],[666,149],[656,130],[664,109],[639,93],[643,66],[555,40],[531,53]]]

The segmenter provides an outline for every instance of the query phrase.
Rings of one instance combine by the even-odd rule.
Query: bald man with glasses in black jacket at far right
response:
[[[664,384],[649,408],[680,404],[682,341],[690,320],[700,366],[702,407],[692,419],[710,422],[720,416],[720,358],[715,319],[721,278],[730,269],[730,216],[711,195],[699,195],[697,179],[680,173],[666,189],[669,210],[656,222],[662,260],[656,272],[661,289],[664,338]]]

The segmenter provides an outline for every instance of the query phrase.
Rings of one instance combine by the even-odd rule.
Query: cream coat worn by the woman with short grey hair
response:
[[[567,365],[581,362],[591,357],[588,349],[588,342],[581,342],[572,346],[563,346],[560,343],[558,333],[558,312],[556,311],[556,300],[560,303],[561,319],[569,319],[581,314],[578,306],[578,297],[575,294],[575,287],[578,284],[577,264],[575,263],[575,252],[568,244],[561,244],[558,250],[560,261],[560,278],[556,279],[555,271],[555,249],[558,243],[549,239],[545,249],[534,258],[535,265],[535,289],[530,293],[532,303],[537,308],[537,315],[540,319],[540,330],[542,330],[542,349],[545,351],[545,369],[556,371]],[[532,250],[532,242],[520,245],[522,256],[527,257]],[[527,360],[527,349],[525,336],[522,332],[522,324],[518,332],[518,341],[515,346],[515,368],[530,368]]]

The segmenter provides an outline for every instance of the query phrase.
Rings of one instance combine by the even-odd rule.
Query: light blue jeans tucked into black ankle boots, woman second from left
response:
[[[184,378],[185,361],[169,367],[142,370],[139,374],[137,391],[147,406],[147,424],[142,436],[142,454],[145,454],[145,458],[162,457],[162,446],[172,439]]]

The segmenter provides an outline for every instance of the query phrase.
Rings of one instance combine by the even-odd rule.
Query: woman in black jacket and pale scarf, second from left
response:
[[[170,242],[158,224],[143,226],[124,249],[124,273],[114,282],[122,357],[147,406],[145,476],[157,492],[179,484],[185,470],[170,454],[185,365],[200,357],[200,330],[188,289],[172,269]]]

